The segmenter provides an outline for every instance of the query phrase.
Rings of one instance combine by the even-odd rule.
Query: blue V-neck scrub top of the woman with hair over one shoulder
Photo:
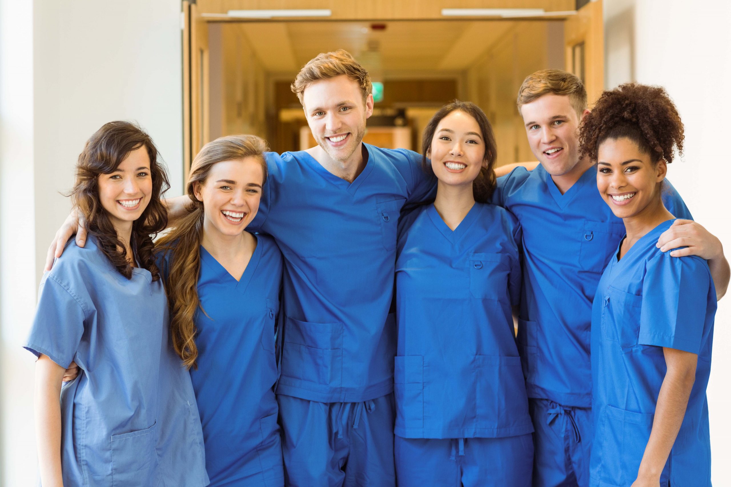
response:
[[[216,487],[284,485],[274,395],[282,259],[271,237],[256,239],[238,281],[200,246],[197,292],[205,313],[199,308],[194,316],[198,358],[190,377]]]

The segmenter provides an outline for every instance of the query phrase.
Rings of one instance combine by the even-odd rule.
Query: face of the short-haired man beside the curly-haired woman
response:
[[[585,110],[585,114],[588,110]],[[579,115],[566,95],[548,93],[520,106],[533,155],[551,176],[569,174],[580,161]]]

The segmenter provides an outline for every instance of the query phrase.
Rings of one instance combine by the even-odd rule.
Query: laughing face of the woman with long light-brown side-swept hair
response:
[[[195,197],[203,202],[204,231],[240,235],[257,215],[263,181],[256,157],[213,164],[205,181],[194,184]]]

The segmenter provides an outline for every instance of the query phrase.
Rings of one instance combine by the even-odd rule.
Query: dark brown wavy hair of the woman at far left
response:
[[[69,196],[86,220],[88,233],[99,242],[99,249],[121,275],[127,279],[132,277],[132,266],[127,261],[124,243],[99,199],[99,176],[114,172],[129,153],[140,147],[145,147],[150,158],[152,193],[142,215],[132,223],[129,243],[140,267],[147,269],[152,280],[156,281],[160,273],[155,264],[153,239],[167,226],[167,209],[160,198],[170,188],[170,183],[162,162],[158,160],[157,147],[147,132],[135,123],[125,121],[105,123],[94,132],[79,156],[76,183]]]

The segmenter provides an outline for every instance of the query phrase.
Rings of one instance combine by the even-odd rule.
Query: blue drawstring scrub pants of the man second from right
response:
[[[533,418],[533,487],[588,487],[594,425],[591,408],[529,399]]]

